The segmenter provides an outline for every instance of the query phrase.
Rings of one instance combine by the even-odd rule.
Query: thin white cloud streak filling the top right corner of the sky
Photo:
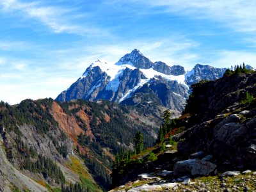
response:
[[[166,13],[189,15],[195,19],[211,19],[241,32],[256,30],[256,1],[253,0],[132,0],[136,3],[148,4],[151,8],[163,8]]]

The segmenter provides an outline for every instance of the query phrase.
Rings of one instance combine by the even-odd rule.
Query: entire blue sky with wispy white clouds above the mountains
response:
[[[97,59],[256,68],[256,1],[0,0],[0,100],[53,99]]]

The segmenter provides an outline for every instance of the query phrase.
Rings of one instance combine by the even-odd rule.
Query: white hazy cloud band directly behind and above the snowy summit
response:
[[[198,46],[200,46],[198,42],[189,40],[185,36],[176,35],[168,38],[124,40],[122,44],[113,42],[108,45],[95,44],[80,48],[90,56],[89,58],[84,57],[84,64],[86,64],[86,61],[90,64],[97,59],[115,63],[124,54],[131,52],[133,49],[140,49],[152,61],[164,61],[168,65],[182,64],[191,68],[196,64],[196,60],[200,58],[200,55],[193,51]]]

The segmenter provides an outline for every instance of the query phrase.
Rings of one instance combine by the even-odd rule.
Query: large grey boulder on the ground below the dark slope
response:
[[[178,161],[174,164],[174,175],[209,175],[216,169],[216,164],[202,161],[199,159],[188,159],[184,161]]]

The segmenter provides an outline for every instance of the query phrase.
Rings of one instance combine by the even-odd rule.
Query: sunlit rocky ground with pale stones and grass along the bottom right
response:
[[[189,177],[174,179],[172,171],[138,175],[138,180],[127,182],[114,191],[256,191],[256,172],[232,171],[208,177]]]

